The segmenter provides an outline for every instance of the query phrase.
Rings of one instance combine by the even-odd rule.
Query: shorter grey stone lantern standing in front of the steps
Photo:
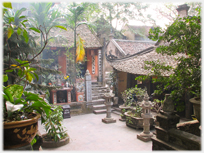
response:
[[[113,94],[112,92],[105,93],[103,96],[106,100],[105,105],[106,105],[106,109],[107,109],[106,118],[102,119],[102,122],[104,122],[104,123],[115,123],[116,122],[115,119],[111,118],[111,106],[113,105],[113,102],[111,99],[114,96],[115,96],[115,94]]]

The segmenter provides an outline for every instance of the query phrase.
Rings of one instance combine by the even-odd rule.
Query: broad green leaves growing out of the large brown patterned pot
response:
[[[40,98],[38,94],[26,92],[23,90],[23,86],[17,84],[9,85],[3,89],[4,103],[9,101],[14,105],[23,105],[20,110],[16,110],[8,114],[8,109],[6,104],[4,104],[4,119],[7,121],[27,119],[29,113],[36,111],[37,113],[41,114],[41,122],[43,123],[44,115],[49,115],[51,106]]]

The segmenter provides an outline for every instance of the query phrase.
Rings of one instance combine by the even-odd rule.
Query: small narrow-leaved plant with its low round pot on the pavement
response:
[[[69,136],[62,126],[62,112],[62,106],[52,105],[51,113],[43,123],[47,133],[42,135],[42,147],[55,148],[69,143]]]

